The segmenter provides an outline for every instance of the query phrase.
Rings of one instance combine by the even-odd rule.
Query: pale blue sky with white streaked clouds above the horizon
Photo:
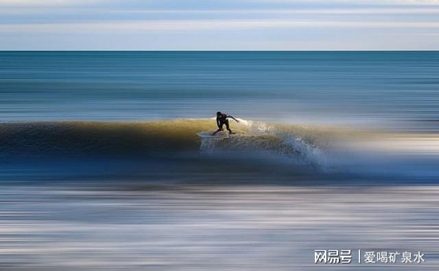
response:
[[[439,0],[0,0],[1,50],[438,50]]]

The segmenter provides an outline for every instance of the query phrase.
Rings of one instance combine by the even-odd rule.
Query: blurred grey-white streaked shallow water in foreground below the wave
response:
[[[3,186],[1,270],[437,270],[438,187]],[[353,263],[314,264],[316,249]],[[356,251],[424,263],[357,263]]]

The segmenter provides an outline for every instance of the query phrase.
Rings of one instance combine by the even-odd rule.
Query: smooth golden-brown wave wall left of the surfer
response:
[[[148,154],[198,148],[203,120],[2,123],[2,155]]]

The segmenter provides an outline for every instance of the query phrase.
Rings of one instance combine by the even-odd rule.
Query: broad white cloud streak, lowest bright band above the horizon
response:
[[[0,32],[126,32],[239,30],[292,27],[340,28],[438,28],[439,22],[387,21],[119,21],[99,23],[34,23],[0,25]]]

